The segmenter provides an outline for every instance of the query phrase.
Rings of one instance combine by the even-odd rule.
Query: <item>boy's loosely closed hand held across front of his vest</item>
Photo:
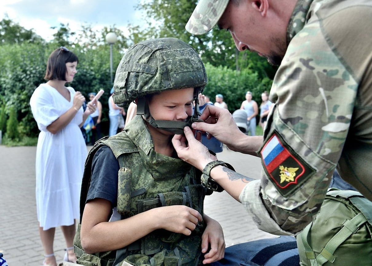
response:
[[[198,222],[203,220],[197,210],[183,205],[164,206],[158,209],[161,211],[163,220],[160,228],[175,233],[190,235]]]

